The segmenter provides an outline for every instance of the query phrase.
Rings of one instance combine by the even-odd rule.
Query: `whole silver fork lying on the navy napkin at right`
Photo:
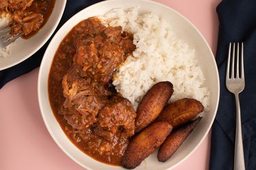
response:
[[[235,75],[235,53],[236,59],[236,75]],[[239,93],[244,90],[244,44],[242,43],[241,54],[239,52],[239,43],[233,43],[232,63],[231,63],[231,76],[230,76],[230,57],[231,57],[231,43],[229,44],[229,56],[227,59],[227,72],[226,72],[226,86],[229,92],[232,92],[236,97],[236,144],[233,169],[244,170],[244,149],[242,144],[242,125],[240,115],[240,102]]]

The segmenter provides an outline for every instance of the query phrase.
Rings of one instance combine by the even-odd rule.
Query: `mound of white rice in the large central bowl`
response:
[[[113,84],[135,110],[147,90],[161,81],[173,84],[169,102],[194,98],[208,110],[210,92],[202,86],[205,78],[197,64],[195,50],[171,31],[167,21],[149,12],[140,14],[139,7],[111,10],[104,20],[112,27],[120,25],[134,34],[133,43],[137,48],[117,70]]]

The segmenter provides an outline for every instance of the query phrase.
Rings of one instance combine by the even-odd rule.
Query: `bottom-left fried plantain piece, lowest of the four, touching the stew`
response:
[[[127,169],[139,166],[165,141],[172,129],[168,122],[155,122],[148,126],[130,141],[121,158],[121,165]]]

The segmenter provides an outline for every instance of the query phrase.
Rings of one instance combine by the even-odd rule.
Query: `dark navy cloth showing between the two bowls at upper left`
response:
[[[98,3],[100,1],[102,0],[68,0],[65,11],[63,13],[63,16],[61,18],[61,21],[59,22],[56,31],[74,14],[83,10],[85,7],[89,5]],[[13,80],[14,78],[17,78],[18,76],[23,75],[25,73],[28,73],[36,67],[39,67],[42,61],[42,57],[44,56],[44,52],[50,41],[51,39],[49,39],[46,42],[46,44],[44,44],[44,46],[42,46],[42,48],[38,50],[38,52],[35,52],[35,54],[29,57],[26,61],[23,61],[22,63],[15,65],[14,67],[10,67],[9,69],[0,71],[0,88],[2,88],[3,85],[5,85],[6,83],[10,82],[10,80]]]

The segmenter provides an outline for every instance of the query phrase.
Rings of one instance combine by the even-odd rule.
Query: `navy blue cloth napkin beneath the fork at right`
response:
[[[223,0],[216,9],[220,22],[216,62],[221,95],[212,126],[210,170],[233,169],[236,104],[225,86],[229,42],[244,42],[245,88],[240,93],[246,169],[256,169],[256,1]]]

